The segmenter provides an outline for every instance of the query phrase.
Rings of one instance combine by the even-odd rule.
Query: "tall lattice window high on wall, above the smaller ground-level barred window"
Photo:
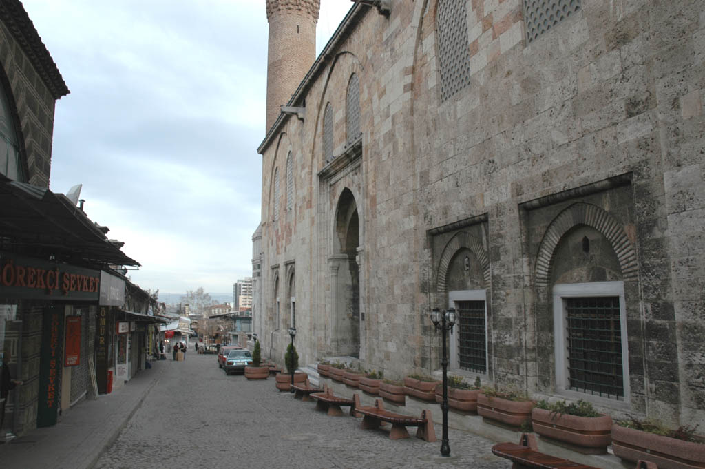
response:
[[[439,1],[436,11],[441,101],[470,85],[467,0]]]

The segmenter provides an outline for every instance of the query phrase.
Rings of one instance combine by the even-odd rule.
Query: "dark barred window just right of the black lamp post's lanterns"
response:
[[[484,301],[458,301],[458,363],[462,370],[487,372]]]

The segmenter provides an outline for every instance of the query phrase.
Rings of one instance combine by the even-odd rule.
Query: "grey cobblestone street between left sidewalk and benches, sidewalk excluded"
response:
[[[510,467],[491,454],[491,441],[453,429],[451,456],[441,458],[436,404],[439,441],[393,441],[388,427],[362,430],[358,418],[317,412],[313,402],[277,391],[274,379],[226,376],[214,355],[188,353],[185,362],[154,366],[165,368],[159,382],[96,468]]]

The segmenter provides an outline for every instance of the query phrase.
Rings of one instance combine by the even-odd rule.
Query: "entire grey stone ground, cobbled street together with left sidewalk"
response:
[[[353,390],[350,390],[352,393]],[[360,418],[329,417],[279,392],[274,379],[226,376],[214,355],[162,360],[113,394],[85,401],[55,427],[0,445],[0,467],[33,468],[486,468],[509,469],[494,441],[450,429],[439,441],[388,438]],[[410,433],[413,435],[413,429]]]

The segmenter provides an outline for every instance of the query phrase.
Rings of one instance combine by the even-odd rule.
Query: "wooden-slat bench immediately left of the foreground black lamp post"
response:
[[[392,424],[392,429],[389,432],[390,439],[409,438],[410,435],[406,427],[417,427],[417,438],[430,442],[436,441],[436,430],[430,410],[422,410],[421,418],[415,418],[385,410],[384,403],[379,398],[374,401],[374,406],[367,407],[360,406],[360,396],[357,394],[354,399],[357,404],[355,413],[362,415],[362,424],[360,425],[362,428],[376,429],[382,422],[389,422]]]

